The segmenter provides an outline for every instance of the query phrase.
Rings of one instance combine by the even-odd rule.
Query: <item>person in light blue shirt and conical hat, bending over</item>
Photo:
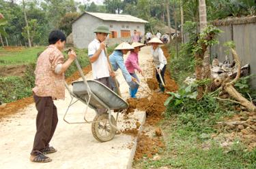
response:
[[[133,50],[134,48],[126,42],[123,42],[119,45],[117,45],[117,48],[115,48],[113,54],[109,56],[109,61],[111,62],[111,65],[113,67],[113,71],[117,71],[117,69],[121,69],[122,74],[124,76],[124,79],[126,79],[126,82],[128,83],[130,96],[134,96],[133,93],[137,92],[138,84],[136,83],[137,79],[132,77],[130,73],[127,71],[126,66],[124,64],[124,54],[127,54],[129,50]],[[113,79],[111,78],[111,86],[116,92],[117,86],[115,86],[115,83]],[[135,92],[136,91],[136,92]]]

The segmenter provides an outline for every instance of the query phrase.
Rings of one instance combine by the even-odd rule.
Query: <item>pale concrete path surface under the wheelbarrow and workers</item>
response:
[[[150,77],[152,75],[152,57],[149,47],[142,48],[139,60],[145,71],[145,76]],[[88,73],[86,77],[91,79],[91,73]],[[117,72],[117,79],[123,98],[128,98],[128,85],[120,71]],[[148,88],[145,81],[142,80],[141,84]],[[140,88],[137,96],[139,98],[147,96],[147,92]],[[0,168],[131,168],[137,138],[119,134],[109,142],[99,143],[91,134],[91,124],[67,124],[63,121],[63,115],[69,102],[70,96],[67,91],[65,100],[55,101],[59,123],[51,140],[51,146],[58,151],[48,155],[53,162],[47,164],[36,164],[29,161],[29,153],[35,135],[35,117],[37,115],[35,105],[31,104],[16,115],[2,119],[0,121]],[[82,102],[77,102],[70,108],[67,119],[83,121],[84,112],[85,105]],[[93,110],[88,109],[87,119],[92,120],[95,115]],[[127,121],[130,122],[127,123]],[[117,126],[119,128],[136,128],[136,121],[143,124],[145,112],[130,113],[128,119],[124,119],[120,115]],[[129,125],[127,126],[127,124]]]

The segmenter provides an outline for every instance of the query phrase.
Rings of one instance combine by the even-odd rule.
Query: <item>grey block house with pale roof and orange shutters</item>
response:
[[[85,12],[72,23],[74,47],[87,48],[95,38],[94,30],[100,24],[109,26],[111,35],[109,35],[107,41],[115,44],[128,41],[134,30],[143,35],[145,33],[145,23],[147,23],[146,20],[130,15]]]

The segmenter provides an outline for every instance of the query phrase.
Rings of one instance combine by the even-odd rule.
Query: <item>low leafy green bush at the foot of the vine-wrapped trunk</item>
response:
[[[205,94],[203,98],[197,100],[197,84],[182,87],[177,92],[169,92],[171,95],[165,102],[167,107],[166,116],[177,115],[178,124],[184,126],[186,130],[193,132],[212,132],[214,129],[210,125],[227,115],[229,111],[210,94]]]

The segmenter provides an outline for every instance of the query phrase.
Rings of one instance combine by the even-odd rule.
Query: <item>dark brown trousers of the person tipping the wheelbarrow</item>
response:
[[[58,123],[58,116],[52,97],[40,97],[33,94],[33,98],[38,115],[36,117],[36,133],[31,155],[38,155],[39,151],[42,152],[49,146]]]

